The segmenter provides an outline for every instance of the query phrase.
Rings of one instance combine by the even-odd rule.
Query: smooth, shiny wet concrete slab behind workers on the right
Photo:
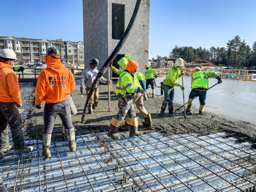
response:
[[[156,78],[157,86],[160,86],[165,78]],[[190,76],[184,76],[185,103],[189,99],[191,91]],[[222,80],[223,83],[217,84],[206,95],[205,111],[217,113],[228,118],[248,121],[256,124],[256,82]],[[182,79],[178,82],[182,84]],[[209,87],[217,83],[215,78],[210,78]],[[152,93],[151,88],[149,91]],[[160,88],[156,88],[156,94],[160,95]],[[175,87],[174,102],[183,104],[183,95],[180,87]],[[197,97],[193,106],[199,109],[199,98]]]

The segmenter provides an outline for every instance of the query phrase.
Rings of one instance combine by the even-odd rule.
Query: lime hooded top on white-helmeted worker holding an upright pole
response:
[[[163,80],[163,83],[165,85],[174,87],[174,86],[182,86],[181,84],[178,83],[178,78],[181,77],[180,75],[180,70],[183,68],[180,67],[180,70],[176,69],[177,65],[175,64],[174,67],[171,67],[171,69],[169,69],[168,74],[165,78],[165,80]]]

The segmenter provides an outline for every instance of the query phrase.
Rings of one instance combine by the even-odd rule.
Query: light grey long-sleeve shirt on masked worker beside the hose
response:
[[[95,80],[98,72],[99,72],[98,69],[93,70],[90,67],[85,69],[82,72],[82,76],[81,76],[81,79],[80,79],[80,87],[84,88],[86,86],[86,87],[90,87],[91,88],[91,86],[93,84],[93,81]],[[106,83],[106,81],[107,80],[104,77],[100,78],[100,82]],[[97,87],[98,86],[99,86],[99,83],[97,84]]]

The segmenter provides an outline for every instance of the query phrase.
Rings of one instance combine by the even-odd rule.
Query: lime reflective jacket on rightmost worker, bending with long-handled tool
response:
[[[197,71],[191,77],[191,89],[205,88],[208,89],[208,78],[219,76],[215,71]]]

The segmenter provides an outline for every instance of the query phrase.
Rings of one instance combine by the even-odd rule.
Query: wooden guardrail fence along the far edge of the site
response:
[[[42,68],[29,68],[33,69],[33,73],[24,73],[17,72],[17,77],[19,79],[37,79],[39,73]],[[171,68],[159,68],[154,69],[156,70],[158,77],[165,77],[168,74],[168,71]],[[69,69],[74,74],[74,78],[81,78],[82,72],[85,69]],[[185,76],[191,76],[193,68],[184,68],[182,69],[185,73]],[[78,73],[75,73],[75,71],[81,71]],[[244,80],[244,81],[256,81],[256,70],[246,70],[246,69],[205,69],[204,71],[215,71],[217,72],[222,79],[231,79],[231,80]],[[252,73],[253,72],[253,73]],[[111,80],[117,80],[118,78],[110,78]]]

